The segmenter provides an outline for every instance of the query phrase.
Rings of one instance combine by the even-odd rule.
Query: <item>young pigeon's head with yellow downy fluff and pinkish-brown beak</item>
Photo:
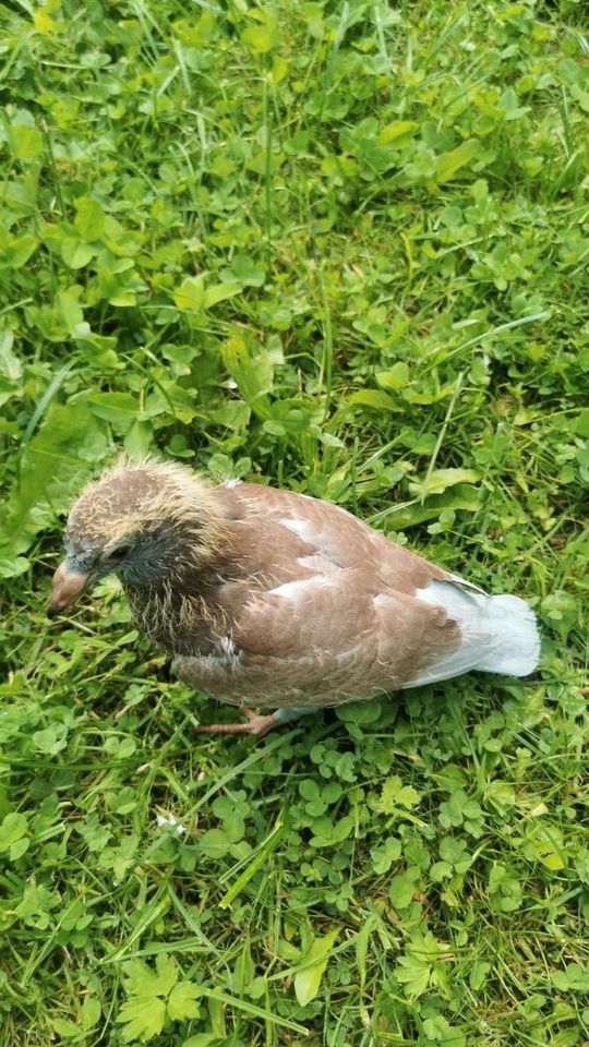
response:
[[[131,586],[180,579],[211,558],[221,537],[208,489],[191,470],[155,458],[121,459],[70,510],[48,614],[106,575]]]

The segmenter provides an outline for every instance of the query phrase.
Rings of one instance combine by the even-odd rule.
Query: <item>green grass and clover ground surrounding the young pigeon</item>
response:
[[[589,1040],[581,9],[5,0],[3,1047]],[[113,583],[44,616],[121,446],[527,595],[539,673],[197,737]]]

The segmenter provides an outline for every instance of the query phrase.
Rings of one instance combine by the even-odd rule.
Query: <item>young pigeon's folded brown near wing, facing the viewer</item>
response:
[[[368,581],[363,568],[340,568],[253,595],[232,624],[242,667],[332,705],[407,686],[459,646],[443,609]]]

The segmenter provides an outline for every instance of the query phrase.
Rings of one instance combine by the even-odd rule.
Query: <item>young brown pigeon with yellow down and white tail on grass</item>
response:
[[[176,674],[248,718],[203,732],[262,736],[325,706],[469,670],[525,676],[538,662],[524,600],[490,597],[291,491],[123,458],[84,489],[64,541],[49,615],[117,574]]]

